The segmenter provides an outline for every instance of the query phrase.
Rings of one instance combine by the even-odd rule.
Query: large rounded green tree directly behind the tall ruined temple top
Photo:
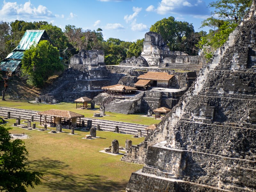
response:
[[[194,53],[190,49],[190,47],[193,47],[193,44],[195,44],[195,42],[190,41],[190,39],[193,39],[192,36],[195,35],[192,24],[186,21],[176,21],[174,17],[168,17],[157,21],[150,27],[150,31],[160,33],[164,41],[170,47],[170,50],[183,51],[188,54],[191,52]]]

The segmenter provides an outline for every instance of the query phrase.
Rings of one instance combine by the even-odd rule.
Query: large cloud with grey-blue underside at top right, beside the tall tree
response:
[[[201,0],[162,0],[156,8],[158,14],[182,13],[188,15],[209,15],[210,11]]]

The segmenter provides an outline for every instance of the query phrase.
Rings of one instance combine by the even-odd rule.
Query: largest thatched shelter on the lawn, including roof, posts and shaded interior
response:
[[[56,124],[61,124],[62,128],[65,129],[76,128],[77,118],[79,118],[79,126],[81,127],[81,117],[84,117],[84,115],[79,113],[59,109],[50,109],[38,112],[37,114],[40,115],[40,125],[47,124],[49,126],[56,126]],[[42,121],[42,116],[44,116],[44,121]],[[51,117],[51,121],[47,121],[47,116]]]

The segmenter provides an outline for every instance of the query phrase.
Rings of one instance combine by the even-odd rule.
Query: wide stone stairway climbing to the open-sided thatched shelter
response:
[[[132,114],[135,112],[134,110],[136,103],[141,100],[143,95],[143,91],[136,91],[135,95],[125,95],[125,99],[118,99],[114,97],[114,99],[110,103],[104,105],[105,111],[122,114]]]

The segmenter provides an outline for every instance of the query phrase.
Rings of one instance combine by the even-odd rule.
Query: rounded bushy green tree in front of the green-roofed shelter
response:
[[[28,76],[27,83],[36,87],[42,87],[49,76],[63,70],[57,48],[46,40],[26,50],[21,62],[22,76]]]

